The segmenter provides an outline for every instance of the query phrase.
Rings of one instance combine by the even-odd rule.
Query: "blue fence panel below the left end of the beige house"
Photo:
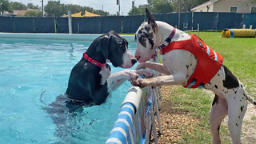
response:
[[[218,29],[218,13],[208,12],[194,12],[193,29],[198,29],[198,23],[200,30],[217,30]]]

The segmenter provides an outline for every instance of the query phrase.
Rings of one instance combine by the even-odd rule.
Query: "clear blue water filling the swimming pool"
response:
[[[106,142],[130,82],[101,106],[66,113],[59,125],[44,109],[65,93],[70,70],[88,46],[89,41],[0,39],[1,143]],[[112,73],[122,70],[110,66]]]

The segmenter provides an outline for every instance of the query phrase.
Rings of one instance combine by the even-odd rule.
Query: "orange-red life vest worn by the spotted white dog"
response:
[[[187,50],[194,54],[195,58],[197,58],[197,66],[184,87],[202,88],[218,73],[224,59],[222,55],[212,50],[195,34],[190,35],[191,38],[188,40],[170,42],[168,46],[160,50],[160,54],[165,54],[166,52],[177,49]]]

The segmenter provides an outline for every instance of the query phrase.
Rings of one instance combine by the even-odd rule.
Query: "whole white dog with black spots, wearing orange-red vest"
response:
[[[148,22],[143,22],[135,34],[138,47],[135,53],[140,67],[166,74],[156,78],[138,78],[135,86],[182,85],[188,88],[204,87],[215,94],[210,110],[210,130],[213,143],[220,143],[219,128],[228,114],[228,126],[233,143],[240,143],[242,119],[247,100],[254,102],[242,83],[222,65],[220,54],[194,34],[186,34],[166,22],[154,21],[146,10]],[[162,64],[146,62],[154,58],[155,50],[162,53]]]

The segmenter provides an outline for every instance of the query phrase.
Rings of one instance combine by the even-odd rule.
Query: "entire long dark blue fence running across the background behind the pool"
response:
[[[178,26],[178,13],[154,14],[155,20]],[[110,30],[135,33],[146,21],[146,15],[72,18],[74,34],[102,34]],[[223,30],[256,26],[256,14],[237,13],[181,13],[181,30]],[[68,33],[67,18],[0,17],[0,32],[10,33]]]

